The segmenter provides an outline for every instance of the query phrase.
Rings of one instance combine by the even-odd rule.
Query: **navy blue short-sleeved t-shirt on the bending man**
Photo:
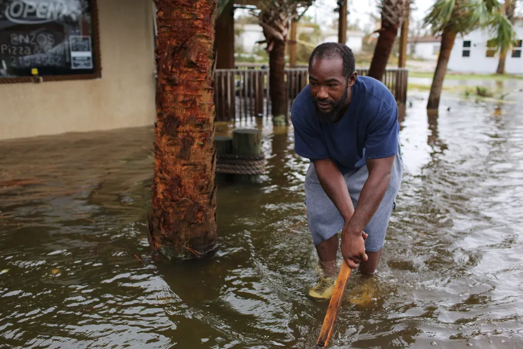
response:
[[[320,121],[309,85],[294,99],[291,119],[294,151],[310,160],[331,159],[342,174],[398,152],[400,126],[396,100],[380,81],[358,76],[341,120]]]

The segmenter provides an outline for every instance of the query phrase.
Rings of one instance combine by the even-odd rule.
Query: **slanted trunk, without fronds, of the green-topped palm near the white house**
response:
[[[441,97],[441,89],[443,88],[443,80],[447,73],[447,64],[449,63],[450,51],[454,46],[456,39],[456,32],[445,27],[441,34],[441,48],[439,50],[438,63],[436,71],[430,86],[430,94],[428,96],[427,109],[437,109],[439,107],[439,98]]]

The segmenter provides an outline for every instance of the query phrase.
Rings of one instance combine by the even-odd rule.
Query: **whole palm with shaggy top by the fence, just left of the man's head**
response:
[[[291,20],[301,15],[313,0],[259,0],[256,10],[251,13],[263,28],[269,52],[269,93],[272,108],[272,121],[277,124],[288,123],[288,89],[285,82],[285,46]]]

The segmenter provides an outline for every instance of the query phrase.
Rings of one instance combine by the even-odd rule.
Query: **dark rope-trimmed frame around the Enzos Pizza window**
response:
[[[46,75],[46,76],[19,76],[19,77],[0,77],[0,84],[19,84],[19,83],[39,83],[49,81],[70,81],[70,80],[96,80],[101,78],[101,52],[100,52],[100,33],[98,22],[97,0],[89,0],[91,5],[91,26],[92,49],[94,72],[89,74],[69,74],[69,75]]]

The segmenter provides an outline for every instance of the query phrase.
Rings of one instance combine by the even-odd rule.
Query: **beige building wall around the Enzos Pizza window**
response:
[[[0,84],[0,139],[152,125],[151,0],[98,0],[102,77]]]

